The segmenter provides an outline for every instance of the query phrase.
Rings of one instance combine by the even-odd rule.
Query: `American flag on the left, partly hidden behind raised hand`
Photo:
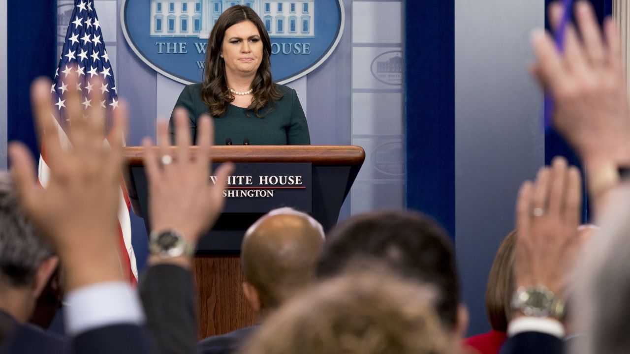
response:
[[[59,132],[62,145],[69,146],[70,142],[64,133],[67,122],[64,119],[66,113],[66,100],[64,99],[68,86],[66,77],[72,72],[77,74],[77,91],[81,93],[84,108],[98,107],[106,110],[106,128],[112,125],[112,111],[118,107],[116,84],[112,72],[110,58],[105,50],[105,41],[101,33],[101,24],[96,16],[93,0],[75,0],[74,8],[68,29],[66,40],[59,58],[59,66],[55,72],[54,83],[50,88],[53,101],[59,113]],[[93,77],[100,77],[101,84],[91,83]],[[100,90],[103,94],[98,102],[89,94],[93,90]],[[104,137],[105,142],[107,142]],[[39,163],[39,181],[46,186],[50,179],[50,169],[46,163],[45,146],[42,146],[42,154]],[[98,200],[95,200],[98,203]],[[135,264],[134,248],[131,244],[131,222],[129,219],[129,197],[122,183],[120,188],[120,207],[118,208],[118,236],[120,237],[120,259],[123,271],[132,284],[137,283],[137,267]]]

